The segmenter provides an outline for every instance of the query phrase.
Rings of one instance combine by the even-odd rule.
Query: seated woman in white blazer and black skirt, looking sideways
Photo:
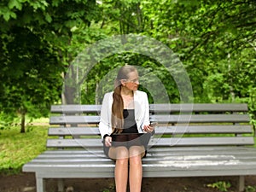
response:
[[[129,65],[121,67],[114,91],[105,94],[102,102],[99,129],[104,153],[115,161],[117,192],[126,192],[128,175],[130,191],[141,191],[142,158],[146,150],[137,137],[139,133],[154,131],[149,125],[148,96],[137,90],[138,85],[137,69]]]

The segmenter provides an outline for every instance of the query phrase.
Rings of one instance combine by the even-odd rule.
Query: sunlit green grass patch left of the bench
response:
[[[48,126],[26,126],[0,130],[0,173],[20,173],[22,166],[45,150]]]

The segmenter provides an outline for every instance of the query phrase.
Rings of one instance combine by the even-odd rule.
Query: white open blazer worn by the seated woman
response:
[[[111,113],[113,103],[113,91],[105,94],[102,102],[101,119],[99,124],[99,130],[101,132],[102,139],[108,134],[112,133],[111,126]],[[148,95],[140,90],[134,91],[134,112],[135,121],[137,124],[137,131],[143,133],[143,126],[149,125],[149,105]]]

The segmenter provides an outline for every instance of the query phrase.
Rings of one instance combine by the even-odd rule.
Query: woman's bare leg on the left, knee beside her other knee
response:
[[[125,146],[109,148],[108,156],[115,160],[114,180],[116,192],[126,192],[129,151]]]

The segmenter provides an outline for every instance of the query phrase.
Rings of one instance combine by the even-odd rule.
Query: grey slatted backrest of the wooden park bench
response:
[[[102,148],[101,105],[53,105],[49,148]],[[246,104],[150,104],[151,147],[253,145]]]

